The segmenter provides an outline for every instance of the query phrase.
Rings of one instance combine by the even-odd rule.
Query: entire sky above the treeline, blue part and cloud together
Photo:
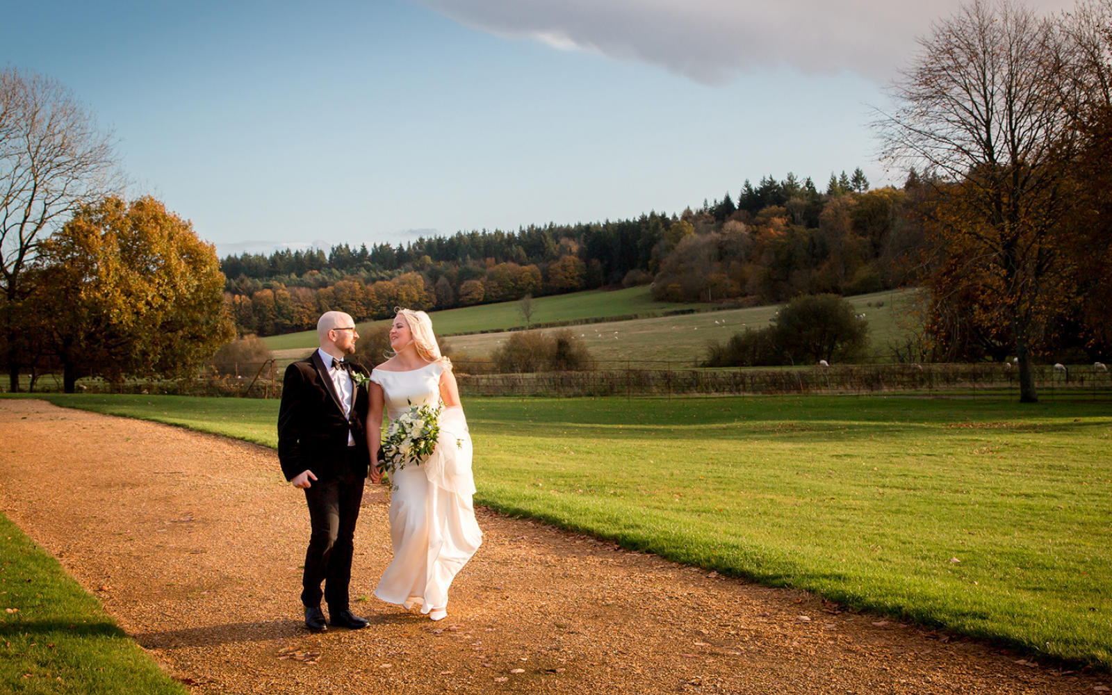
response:
[[[873,108],[956,3],[39,0],[6,10],[0,63],[69,87],[129,195],[224,256],[902,181]]]

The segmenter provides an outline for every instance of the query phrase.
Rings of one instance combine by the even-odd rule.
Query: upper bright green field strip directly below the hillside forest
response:
[[[662,314],[669,309],[706,308],[699,305],[654,301],[647,287],[631,287],[616,290],[590,290],[570,295],[537,297],[533,300],[532,322],[603,319],[610,316],[634,314]],[[506,330],[525,325],[517,301],[484,304],[459,309],[431,311],[433,328],[439,336],[474,332],[477,330]],[[393,317],[391,317],[393,318]],[[384,321],[387,319],[384,319]],[[359,324],[366,330],[379,321]],[[312,330],[270,336],[262,339],[271,350],[290,350],[317,346],[317,334]]]

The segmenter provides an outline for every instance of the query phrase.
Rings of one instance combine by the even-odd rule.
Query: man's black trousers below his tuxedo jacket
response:
[[[355,457],[358,447],[348,447]],[[363,485],[366,478],[351,473],[355,466],[339,466],[344,473],[335,478],[312,483],[305,488],[312,529],[309,548],[305,552],[305,574],[301,575],[301,603],[311,608],[324,596],[329,614],[348,608],[348,585],[351,582],[351,556],[355,553],[355,523],[359,518]],[[325,583],[321,593],[320,583]]]

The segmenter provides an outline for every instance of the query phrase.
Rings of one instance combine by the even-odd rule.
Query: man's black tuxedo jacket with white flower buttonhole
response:
[[[359,365],[353,374],[368,376]],[[290,480],[302,470],[311,470],[318,480],[335,478],[348,458],[348,431],[355,438],[355,458],[360,477],[367,475],[370,455],[367,451],[367,409],[370,398],[365,387],[356,386],[355,404],[347,419],[339,396],[320,359],[320,351],[292,363],[286,368],[281,406],[278,409],[278,460]]]

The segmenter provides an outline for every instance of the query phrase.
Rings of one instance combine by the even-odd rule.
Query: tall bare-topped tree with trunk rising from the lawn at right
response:
[[[921,40],[895,86],[896,110],[878,123],[891,158],[934,177],[924,224],[939,335],[965,337],[947,335],[941,318],[950,316],[1007,346],[1024,403],[1037,400],[1032,353],[1066,270],[1054,239],[1071,139],[1054,60],[1061,40],[1010,0],[974,0]]]

